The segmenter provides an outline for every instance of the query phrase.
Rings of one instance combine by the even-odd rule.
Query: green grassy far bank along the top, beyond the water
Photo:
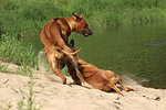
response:
[[[0,33],[37,35],[51,19],[84,14],[95,25],[146,23],[166,18],[166,0],[1,0]]]

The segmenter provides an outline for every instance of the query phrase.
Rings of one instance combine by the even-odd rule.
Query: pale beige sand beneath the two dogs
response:
[[[27,95],[29,94],[30,77],[0,73],[0,107],[6,108],[10,102],[11,110],[17,110],[18,101],[22,100],[24,92],[24,106],[27,105]],[[126,92],[122,89],[124,96],[116,91],[104,92],[97,89],[87,89],[72,82],[68,78],[68,85],[62,85],[61,79],[52,75],[56,82],[48,80],[41,73],[33,74],[33,98],[35,108],[41,110],[165,110],[166,109],[166,89],[145,88],[137,85],[132,79],[124,84],[135,91]],[[128,81],[128,82],[127,82]],[[134,85],[133,85],[134,84]]]

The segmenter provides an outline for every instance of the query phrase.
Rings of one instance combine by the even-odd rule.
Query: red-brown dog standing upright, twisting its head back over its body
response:
[[[61,74],[59,64],[62,58],[65,62],[70,62],[76,70],[81,82],[85,82],[83,76],[77,69],[77,61],[75,54],[81,50],[73,52],[68,44],[68,37],[71,32],[77,32],[84,36],[92,35],[93,32],[89,29],[86,21],[83,19],[83,14],[75,15],[73,18],[58,18],[49,21],[41,31],[40,37],[44,44],[44,51],[46,52],[48,62],[52,68],[52,72],[61,77],[63,84],[66,84],[66,78]],[[68,56],[68,58],[66,58]]]

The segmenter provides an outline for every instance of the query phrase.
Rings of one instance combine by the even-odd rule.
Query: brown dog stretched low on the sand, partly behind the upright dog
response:
[[[70,43],[71,48],[74,51],[74,41],[71,40]],[[100,89],[103,91],[110,91],[112,88],[116,90],[120,95],[123,96],[121,90],[116,87],[116,84],[120,84],[125,91],[134,91],[134,89],[131,89],[126,87],[123,82],[120,76],[117,76],[115,73],[111,70],[103,70],[97,68],[96,66],[89,64],[81,59],[76,55],[79,59],[79,70],[82,73],[85,81],[90,84],[93,88]],[[72,76],[72,79],[74,80],[74,84],[80,85],[81,81],[75,75],[75,68],[71,65],[71,63],[66,63],[68,68],[69,68],[69,74]]]

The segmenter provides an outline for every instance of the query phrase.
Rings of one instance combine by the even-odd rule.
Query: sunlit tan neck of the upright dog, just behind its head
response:
[[[68,21],[71,31],[76,32],[77,25],[76,25],[76,22],[75,22],[74,18],[65,18],[65,20]]]

